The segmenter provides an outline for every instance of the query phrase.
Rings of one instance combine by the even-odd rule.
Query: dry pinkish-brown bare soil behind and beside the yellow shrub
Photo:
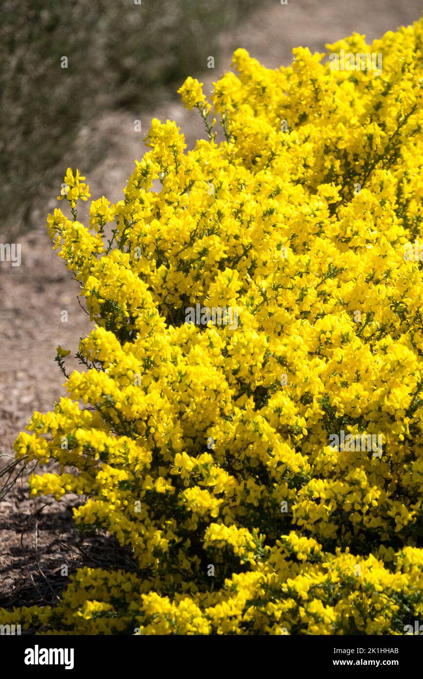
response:
[[[229,50],[236,45],[274,68],[288,64],[297,45],[324,52],[325,43],[353,31],[373,39],[418,20],[422,12],[422,0],[288,0],[287,5],[274,0],[258,6],[248,24],[221,36],[220,62],[230,67]],[[194,64],[192,75],[204,82],[208,92],[219,73],[212,69],[204,73],[204,67]],[[151,101],[149,110],[140,111],[139,117],[143,132],[151,117],[176,120],[189,146],[203,136],[196,113],[185,111],[170,94],[160,103]],[[64,160],[64,172],[68,163],[78,166],[78,149],[88,134],[100,135],[109,149],[104,162],[87,178],[92,198],[105,195],[119,200],[134,158],[141,158],[145,151],[140,141],[144,134],[134,132],[133,113],[105,112],[80,130]],[[77,303],[77,285],[52,251],[44,228],[45,216],[55,204],[54,199],[41,204],[36,215],[39,228],[16,239],[22,245],[21,265],[0,264],[0,454],[12,453],[14,437],[34,410],[47,411],[63,394],[63,376],[53,360],[56,346],[76,350],[79,337],[91,329]],[[69,314],[67,323],[60,321],[62,310]],[[29,499],[24,476],[0,502],[0,606],[54,600],[66,581],[62,565],[69,566],[69,573],[81,564],[128,565],[128,555],[107,534],[75,532],[71,522],[74,501],[52,502],[41,509],[43,501]]]

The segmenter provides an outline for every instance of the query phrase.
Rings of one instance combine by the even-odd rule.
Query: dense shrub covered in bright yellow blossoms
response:
[[[107,529],[134,571],[79,569],[54,607],[3,619],[403,634],[422,617],[423,268],[405,256],[423,239],[422,45],[423,20],[329,45],[382,54],[382,73],[237,50],[210,101],[179,90],[209,141],[186,152],[153,120],[123,200],[93,202],[88,225],[68,170],[72,219],[48,229],[95,325],[86,370],[15,450],[56,460],[32,495],[81,494],[77,526]]]

